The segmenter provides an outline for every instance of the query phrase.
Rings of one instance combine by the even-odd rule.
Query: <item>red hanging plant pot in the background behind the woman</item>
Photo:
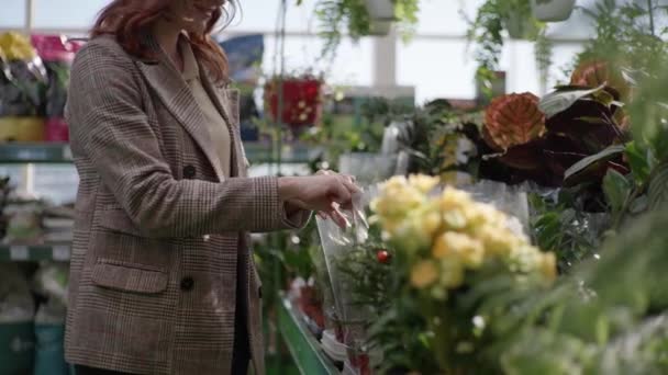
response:
[[[322,113],[322,81],[311,78],[282,81],[280,91],[283,102],[279,116],[280,86],[278,80],[271,80],[265,86],[265,105],[271,121],[280,121],[291,127],[314,125]]]

